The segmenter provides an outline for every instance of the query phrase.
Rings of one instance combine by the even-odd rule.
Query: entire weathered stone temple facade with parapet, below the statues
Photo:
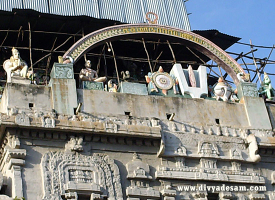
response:
[[[51,80],[52,87],[8,83],[3,92],[0,170],[7,179],[5,194],[14,198],[22,192],[26,199],[60,200],[68,195],[62,191],[68,183],[64,178],[70,175],[74,178],[70,181],[77,184],[73,177],[77,171],[90,185],[87,174],[100,175],[93,168],[98,162],[99,168],[104,166],[101,178],[108,176],[106,185],[122,193],[122,198],[117,192],[112,199],[194,199],[201,193],[182,193],[177,186],[197,183],[266,185],[268,191],[255,193],[258,197],[250,197],[251,192],[226,195],[229,199],[273,199],[268,196],[274,194],[275,139],[261,98],[244,97],[243,103],[230,103],[78,89],[78,102],[83,105],[81,113],[74,115],[76,89],[70,90],[75,88],[74,80]],[[60,113],[48,113],[54,108],[50,99],[59,103],[56,111]],[[273,107],[269,110],[273,116]],[[175,113],[172,121],[167,119],[170,113]],[[261,161],[253,159],[259,156]],[[6,162],[6,157],[11,161]],[[133,164],[131,169],[129,164]],[[64,173],[69,175],[62,179]],[[20,181],[22,189],[17,184]],[[13,192],[10,188],[15,186],[18,189]],[[106,198],[96,188],[89,190],[93,192],[89,196],[78,189],[78,199]]]

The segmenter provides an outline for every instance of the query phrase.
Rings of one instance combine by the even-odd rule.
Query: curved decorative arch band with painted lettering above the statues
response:
[[[230,75],[236,85],[239,83],[236,74],[239,72],[245,74],[242,67],[230,55],[210,40],[179,28],[146,23],[114,25],[91,32],[74,43],[63,57],[71,56],[76,62],[87,51],[108,40],[137,34],[158,34],[180,39],[182,44],[190,46],[214,60]]]

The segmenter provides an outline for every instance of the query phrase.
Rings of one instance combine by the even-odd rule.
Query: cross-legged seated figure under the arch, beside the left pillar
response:
[[[91,61],[87,60],[85,63],[85,68],[81,69],[79,73],[79,79],[82,81],[95,81],[95,82],[105,82],[107,80],[106,76],[98,77],[95,70],[91,69]]]

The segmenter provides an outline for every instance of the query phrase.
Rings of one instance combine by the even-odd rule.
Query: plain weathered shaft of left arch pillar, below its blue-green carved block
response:
[[[76,86],[74,79],[51,78],[52,108],[57,113],[74,113],[73,108],[77,107]]]

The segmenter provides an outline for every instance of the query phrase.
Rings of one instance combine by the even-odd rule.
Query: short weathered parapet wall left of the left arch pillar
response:
[[[1,112],[6,113],[8,108],[29,109],[29,103],[33,104],[34,109],[49,110],[50,87],[33,84],[7,83],[1,98]]]

